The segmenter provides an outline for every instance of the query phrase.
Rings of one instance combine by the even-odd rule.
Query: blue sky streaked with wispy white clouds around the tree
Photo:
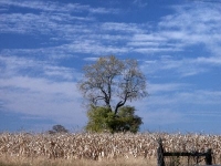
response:
[[[141,131],[221,134],[219,0],[0,0],[0,131],[87,122],[82,68],[136,59]]]

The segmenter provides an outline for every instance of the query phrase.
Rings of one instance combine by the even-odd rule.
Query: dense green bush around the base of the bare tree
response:
[[[109,107],[94,106],[87,112],[87,132],[131,132],[137,133],[143,124],[141,117],[135,115],[135,107],[123,106],[115,115]]]

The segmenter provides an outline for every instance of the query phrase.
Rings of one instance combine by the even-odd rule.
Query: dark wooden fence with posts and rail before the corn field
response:
[[[199,153],[199,152],[192,152],[192,153],[183,153],[183,152],[165,152],[162,147],[162,141],[161,138],[158,139],[158,149],[157,149],[157,164],[158,166],[166,166],[165,164],[165,157],[170,156],[170,157],[180,157],[180,156],[186,156],[188,157],[188,164],[189,165],[189,159],[190,157],[196,159],[196,164],[198,165],[201,160],[200,157],[204,157],[206,165],[212,165],[212,149],[208,149],[206,153]],[[194,164],[194,165],[196,165]],[[179,165],[177,164],[170,164],[170,165]]]

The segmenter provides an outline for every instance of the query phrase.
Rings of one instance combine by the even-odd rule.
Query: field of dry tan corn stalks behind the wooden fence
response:
[[[161,137],[168,152],[204,152],[212,148],[213,163],[221,164],[221,136],[203,134],[0,134],[0,165],[36,160],[51,162],[48,165],[98,165],[102,160],[115,163],[129,160],[128,165],[156,165],[157,139]],[[7,162],[6,162],[7,160]],[[84,162],[83,162],[84,160]],[[91,162],[85,162],[91,160]],[[36,163],[36,165],[41,165]],[[53,164],[54,163],[54,164]],[[66,164],[65,164],[66,163]],[[81,163],[81,164],[80,164]],[[105,165],[108,165],[107,162]],[[139,165],[136,164],[136,165]],[[13,164],[11,164],[12,166]],[[43,164],[45,165],[45,163]],[[104,165],[101,164],[101,165]],[[110,165],[110,164],[109,164]],[[122,165],[122,164],[120,164]]]

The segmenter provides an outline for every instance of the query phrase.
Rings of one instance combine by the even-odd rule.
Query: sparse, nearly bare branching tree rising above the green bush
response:
[[[127,101],[147,95],[146,77],[136,60],[118,60],[114,55],[102,56],[86,65],[80,91],[91,104],[105,105],[115,115]]]

